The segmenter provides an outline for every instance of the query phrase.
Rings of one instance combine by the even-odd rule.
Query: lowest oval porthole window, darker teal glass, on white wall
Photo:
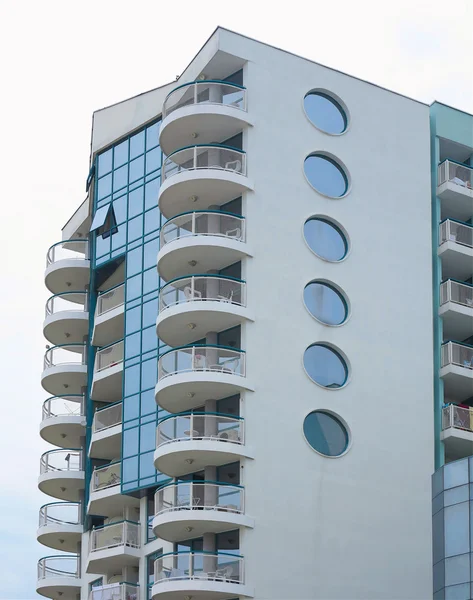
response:
[[[347,428],[335,415],[324,410],[314,410],[304,419],[304,436],[307,443],[324,456],[341,456],[350,441]]]

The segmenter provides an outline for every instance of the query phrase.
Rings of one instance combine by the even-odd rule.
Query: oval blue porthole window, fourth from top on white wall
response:
[[[341,325],[348,316],[348,305],[343,295],[321,281],[311,281],[305,286],[304,304],[310,314],[325,325]]]

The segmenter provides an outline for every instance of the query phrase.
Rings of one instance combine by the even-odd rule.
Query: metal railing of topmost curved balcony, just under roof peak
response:
[[[246,88],[216,80],[185,83],[166,96],[163,119],[179,108],[195,104],[218,104],[246,111]]]

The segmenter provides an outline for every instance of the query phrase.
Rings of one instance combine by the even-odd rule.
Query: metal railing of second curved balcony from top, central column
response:
[[[163,182],[184,171],[218,169],[246,175],[246,154],[237,148],[219,144],[189,146],[176,150],[163,163]]]

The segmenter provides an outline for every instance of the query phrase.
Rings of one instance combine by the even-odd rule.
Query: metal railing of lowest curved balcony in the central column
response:
[[[155,585],[186,579],[242,584],[243,556],[227,552],[170,552],[155,560]]]

